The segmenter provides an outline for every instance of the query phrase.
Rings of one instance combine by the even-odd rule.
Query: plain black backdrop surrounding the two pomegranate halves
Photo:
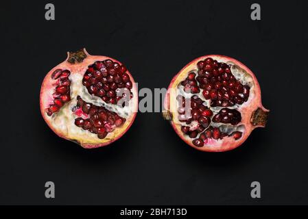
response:
[[[307,1],[3,2],[1,18],[0,204],[307,204]],[[161,114],[139,113],[104,148],[58,138],[39,110],[40,83],[86,47],[120,60],[139,88],[166,88],[185,64],[206,54],[244,62],[271,110],[238,149],[202,153]],[[45,198],[54,181],[56,198]],[[250,183],[261,183],[261,198]]]

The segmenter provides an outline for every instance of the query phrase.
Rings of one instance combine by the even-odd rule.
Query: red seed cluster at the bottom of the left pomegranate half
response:
[[[88,118],[75,118],[75,125],[97,134],[98,138],[105,138],[109,132],[115,130],[116,127],[121,127],[125,123],[126,119],[115,112],[110,112],[102,106],[99,107],[92,103],[87,103],[80,96],[77,99],[77,105],[73,108],[73,111],[82,110],[84,114],[88,115]]]

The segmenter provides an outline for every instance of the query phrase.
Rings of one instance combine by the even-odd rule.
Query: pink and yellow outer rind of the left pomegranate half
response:
[[[99,139],[95,136],[95,134],[90,133],[88,131],[83,131],[82,132],[84,133],[83,135],[71,135],[69,133],[69,130],[59,129],[59,127],[53,125],[53,120],[52,120],[53,117],[47,116],[46,109],[47,107],[49,107],[49,105],[53,103],[53,100],[54,100],[52,94],[54,92],[55,85],[54,85],[54,81],[51,80],[51,74],[54,73],[54,70],[67,69],[67,70],[70,70],[71,73],[75,75],[79,74],[80,83],[82,83],[81,80],[82,80],[84,73],[86,72],[86,69],[88,68],[90,64],[93,64],[95,61],[103,61],[103,60],[109,59],[109,60],[112,60],[113,62],[118,62],[119,64],[121,64],[121,62],[119,62],[118,60],[115,60],[111,57],[107,57],[104,55],[89,55],[85,49],[84,49],[84,53],[86,53],[86,58],[83,60],[83,62],[75,63],[75,64],[70,64],[69,62],[67,62],[67,60],[69,59],[69,53],[68,53],[67,59],[64,62],[58,64],[58,66],[55,66],[49,71],[49,73],[47,73],[47,75],[43,79],[43,83],[40,88],[40,113],[42,114],[49,128],[52,131],[54,131],[54,133],[56,133],[57,136],[59,136],[60,138],[64,138],[66,140],[71,140],[73,142],[76,142],[80,144],[82,147],[84,147],[84,149],[94,149],[94,148],[106,146],[108,144],[111,144],[112,142],[115,142],[116,140],[121,138],[121,136],[123,136],[124,133],[128,131],[128,129],[130,129],[130,127],[132,126],[132,123],[134,122],[134,119],[137,116],[138,92],[137,92],[136,83],[134,82],[132,75],[130,74],[128,70],[126,70],[126,73],[130,77],[130,81],[132,81],[131,92],[133,94],[133,97],[132,99],[130,99],[130,103],[129,103],[130,105],[132,105],[131,113],[128,116],[128,118],[126,118],[126,122],[121,127],[117,127],[114,131],[108,133],[108,135],[104,139]],[[79,95],[78,90],[71,90],[71,101],[73,101],[73,99],[75,99],[78,95]],[[73,105],[73,103],[71,104]],[[64,111],[64,109],[62,111]],[[58,113],[59,114],[64,113],[62,111],[60,110],[60,112]],[[71,109],[65,109],[65,113],[73,114],[73,112],[71,112]],[[59,122],[64,123],[64,121],[59,121]],[[74,120],[71,120],[70,122],[73,125]],[[81,129],[81,128],[76,127],[76,129]],[[89,138],[89,136],[91,136],[91,138]]]

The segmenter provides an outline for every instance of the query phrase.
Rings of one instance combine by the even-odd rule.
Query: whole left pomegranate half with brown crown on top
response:
[[[40,89],[40,112],[61,138],[86,149],[123,136],[138,110],[137,86],[121,62],[85,49],[47,73]]]

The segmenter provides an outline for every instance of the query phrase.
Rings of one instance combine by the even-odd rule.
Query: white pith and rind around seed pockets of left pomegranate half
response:
[[[65,68],[63,67],[63,64],[59,64],[56,66],[53,70],[51,70],[49,73],[52,73],[57,68],[60,68],[62,70],[67,69],[71,71],[71,74],[69,75],[69,80],[71,81],[70,86],[70,96],[71,101],[65,103],[58,112],[52,114],[51,116],[48,116],[45,112],[45,109],[53,104],[54,97],[53,94],[55,92],[56,88],[56,80],[50,79],[51,74],[48,74],[45,77],[45,81],[43,82],[42,90],[41,90],[41,97],[40,101],[41,103],[41,112],[45,120],[47,120],[47,124],[51,126],[51,129],[54,130],[60,137],[64,137],[68,140],[72,140],[73,142],[77,142],[78,144],[81,144],[82,146],[85,146],[87,148],[91,148],[92,146],[98,146],[98,145],[104,145],[105,143],[109,144],[110,142],[113,142],[117,138],[121,137],[123,133],[125,133],[126,129],[130,127],[132,124],[132,120],[134,120],[135,114],[137,112],[138,107],[138,97],[137,97],[137,88],[134,84],[134,80],[130,76],[130,73],[128,75],[130,76],[130,80],[133,83],[133,87],[130,90],[132,92],[132,99],[130,99],[124,107],[121,107],[117,104],[111,104],[111,103],[105,103],[101,98],[98,96],[94,96],[94,94],[89,94],[88,90],[85,86],[82,85],[82,78],[84,76],[84,73],[86,72],[86,69],[90,64],[93,64],[95,61],[104,61],[106,59],[110,59],[110,57],[103,57],[103,56],[93,56],[88,55],[86,59],[78,66],[78,64],[72,65],[72,68]],[[114,62],[118,62],[117,60],[112,60]],[[119,63],[119,62],[118,62]],[[67,63],[65,63],[65,66],[67,66]],[[74,72],[75,70],[75,72]],[[49,81],[46,81],[49,80]],[[53,84],[54,83],[54,84]],[[50,89],[43,89],[43,87],[47,87]],[[84,116],[78,115],[73,110],[76,109],[77,105],[77,96],[80,96],[83,101],[86,101],[87,103],[92,103],[93,105],[96,105],[97,107],[105,107],[106,110],[109,110],[110,112],[115,112],[119,116],[126,119],[126,122],[121,125],[121,127],[115,127],[115,129],[112,132],[109,132],[104,139],[99,139],[97,137],[97,134],[91,133],[88,130],[84,130],[81,127],[77,127],[75,125],[75,118],[86,118]],[[43,109],[44,108],[44,109]],[[84,114],[85,115],[85,114]],[[90,116],[88,116],[90,118]]]

